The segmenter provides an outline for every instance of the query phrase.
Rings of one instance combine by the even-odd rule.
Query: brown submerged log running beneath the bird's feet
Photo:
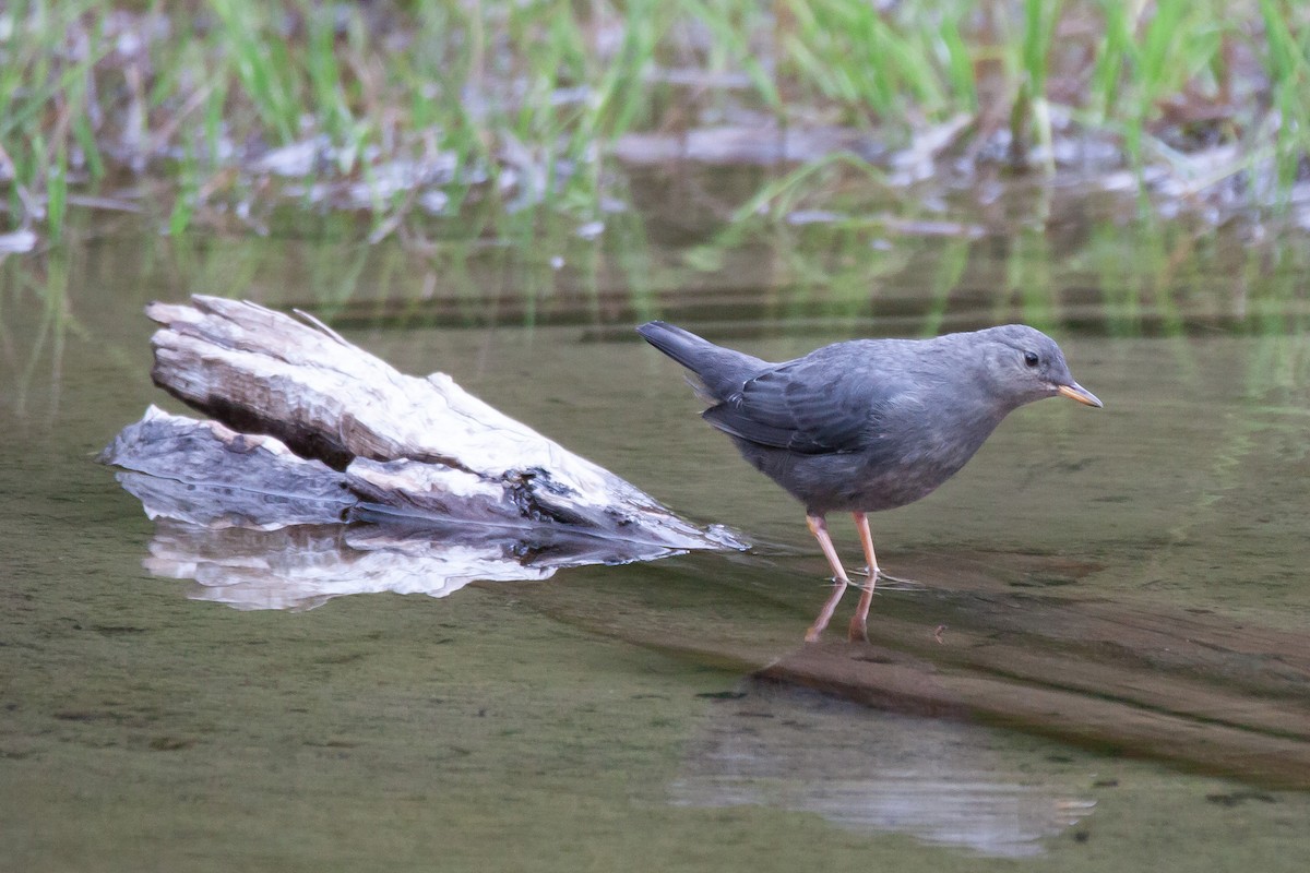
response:
[[[1224,615],[1128,594],[1107,599],[1077,586],[1060,594],[1017,589],[1020,567],[1058,575],[1064,560],[1015,558],[903,555],[897,569],[927,588],[879,586],[872,644],[798,644],[808,605],[747,584],[757,569],[738,561],[718,573],[713,594],[684,588],[669,596],[677,609],[631,609],[630,589],[603,580],[521,588],[515,599],[593,633],[751,674],[740,707],[756,716],[755,691],[779,683],[907,716],[1055,737],[1107,754],[1111,770],[1116,757],[1142,758],[1310,789],[1310,639],[1302,631],[1271,627],[1256,613]],[[769,720],[751,721],[760,734],[753,742]],[[814,721],[814,713],[803,720],[798,753],[807,772],[823,746]],[[886,741],[882,728],[850,729],[870,746]],[[741,754],[740,737],[734,751],[743,768],[761,763]],[[724,762],[697,764],[705,776]],[[850,764],[844,759],[838,779],[853,776]]]

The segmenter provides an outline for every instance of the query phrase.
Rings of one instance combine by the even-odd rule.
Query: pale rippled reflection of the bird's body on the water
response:
[[[1032,770],[1041,758],[1031,753],[1007,764],[1010,736],[768,679],[747,679],[739,691],[711,704],[686,775],[672,785],[675,804],[808,811],[997,857],[1040,855],[1044,839],[1093,806],[1060,764]]]

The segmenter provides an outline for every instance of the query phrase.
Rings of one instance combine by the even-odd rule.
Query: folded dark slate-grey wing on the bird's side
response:
[[[896,377],[871,381],[869,370],[804,357],[748,380],[705,420],[732,436],[800,454],[857,452],[878,419],[904,394]]]

